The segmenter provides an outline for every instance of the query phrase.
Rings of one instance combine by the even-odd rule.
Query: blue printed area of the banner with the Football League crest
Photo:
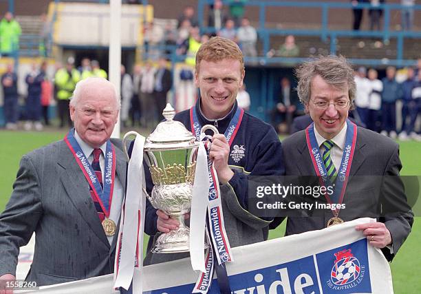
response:
[[[372,293],[367,239],[285,264],[232,275],[229,280],[233,294]],[[191,293],[193,286],[188,284],[147,293],[185,294]],[[217,280],[213,281],[208,293],[219,293]]]

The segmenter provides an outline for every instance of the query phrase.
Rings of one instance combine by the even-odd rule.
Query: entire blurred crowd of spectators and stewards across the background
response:
[[[138,1],[128,1],[136,3]],[[135,65],[128,74],[122,65],[122,125],[127,127],[131,122],[132,126],[139,123],[144,127],[152,127],[161,119],[161,112],[165,106],[166,94],[172,87],[171,72],[166,69],[166,58],[172,54],[173,49],[178,56],[184,58],[187,67],[180,71],[180,80],[193,83],[193,68],[195,66],[195,54],[200,45],[205,43],[210,36],[218,35],[231,39],[239,45],[244,56],[257,56],[257,30],[251,25],[250,20],[245,15],[246,0],[221,1],[215,0],[208,8],[208,27],[211,30],[208,34],[200,34],[197,16],[193,6],[186,6],[177,19],[177,25],[170,22],[162,25],[151,21],[144,25],[144,44],[147,48],[147,62],[143,66]],[[381,29],[381,5],[384,0],[362,0],[352,1],[358,3],[370,3],[368,9],[370,17],[370,29]],[[402,28],[411,30],[413,23],[414,1],[402,0]],[[225,5],[225,6],[224,6]],[[380,6],[380,7],[378,7]],[[354,8],[354,30],[360,29],[364,10]],[[51,33],[50,24],[47,22],[45,14],[41,17],[43,29],[40,33],[43,50],[50,50],[47,39]],[[19,23],[14,21],[13,15],[8,12],[0,23],[0,49],[2,54],[8,54],[10,48],[14,48],[19,40],[21,29]],[[300,49],[295,43],[293,35],[285,36],[285,41],[277,50],[271,50],[267,56],[296,57],[299,56]],[[152,64],[158,64],[158,67]],[[420,62],[421,63],[421,62]],[[24,129],[42,129],[48,125],[48,105],[54,96],[60,118],[60,127],[72,125],[69,118],[69,98],[72,95],[74,85],[80,79],[87,76],[101,76],[107,78],[107,72],[100,68],[98,61],[83,59],[80,66],[74,68],[74,60],[69,59],[67,64],[58,66],[54,78],[47,78],[45,65],[32,65],[32,69],[25,77],[28,85],[28,96],[26,98],[25,112],[19,114],[17,103],[17,77],[13,72],[13,66],[8,66],[6,74],[2,77],[2,86],[5,92],[5,113],[8,129],[17,128],[17,120],[25,119]],[[357,96],[355,101],[356,114],[363,124],[369,129],[381,132],[392,138],[399,136],[400,139],[407,138],[420,139],[420,135],[415,133],[415,122],[420,112],[420,76],[419,70],[407,69],[407,80],[403,83],[396,81],[396,69],[387,68],[387,76],[380,81],[378,72],[375,69],[367,70],[360,67],[356,71]],[[41,78],[42,77],[42,78]],[[4,81],[3,81],[4,79]],[[54,81],[54,85],[52,84]],[[281,90],[277,98],[276,107],[271,112],[272,124],[277,129],[290,129],[294,116],[301,114],[299,101],[292,91],[291,81],[288,78],[281,79]],[[49,86],[50,85],[50,86]],[[50,90],[54,95],[45,94]],[[46,90],[44,90],[46,89]],[[290,91],[291,90],[291,91]],[[16,97],[16,98],[15,98]],[[35,98],[36,97],[36,98]],[[38,98],[39,97],[39,98]],[[250,108],[250,95],[246,90],[241,91],[238,97],[241,107]],[[158,102],[159,101],[159,102]],[[402,126],[396,127],[396,101],[402,101]],[[244,105],[242,104],[244,103]],[[36,106],[34,106],[36,105]],[[41,105],[39,107],[38,105]],[[16,111],[13,109],[17,109]],[[43,109],[43,110],[39,110]],[[142,112],[142,109],[149,111]],[[15,114],[16,113],[16,114]],[[9,115],[10,114],[10,115]],[[41,119],[43,118],[43,119]]]

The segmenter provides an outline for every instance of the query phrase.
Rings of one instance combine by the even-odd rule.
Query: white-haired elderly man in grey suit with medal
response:
[[[122,144],[110,139],[119,109],[120,98],[105,78],[80,81],[70,102],[74,129],[23,156],[0,215],[1,280],[14,279],[19,247],[32,233],[34,258],[26,280],[37,286],[114,271],[126,182]]]

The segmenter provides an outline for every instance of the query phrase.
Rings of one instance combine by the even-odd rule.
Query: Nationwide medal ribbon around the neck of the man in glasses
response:
[[[338,169],[338,177],[336,178],[334,193],[332,193],[332,196],[328,196],[327,193],[325,193],[325,198],[330,204],[342,204],[343,196],[345,196],[345,189],[347,188],[349,171],[351,171],[352,159],[354,158],[357,126],[349,119],[346,120],[346,123],[347,134],[345,137],[345,147],[343,149],[341,165]],[[312,163],[314,170],[316,171],[316,175],[321,177],[321,182],[323,185],[331,185],[332,183],[330,182],[330,178],[327,176],[327,171],[322,160],[319,144],[317,143],[316,136],[314,134],[314,123],[305,129],[305,140],[307,141],[307,147],[310,151],[310,157],[312,158]],[[335,218],[338,218],[339,211],[340,209],[332,209],[332,213],[334,214]]]

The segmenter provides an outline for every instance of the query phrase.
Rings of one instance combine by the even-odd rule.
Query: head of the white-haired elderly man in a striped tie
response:
[[[109,84],[91,83],[80,89],[79,95],[76,105],[70,105],[70,117],[80,138],[98,148],[111,137],[117,123],[114,88]]]

